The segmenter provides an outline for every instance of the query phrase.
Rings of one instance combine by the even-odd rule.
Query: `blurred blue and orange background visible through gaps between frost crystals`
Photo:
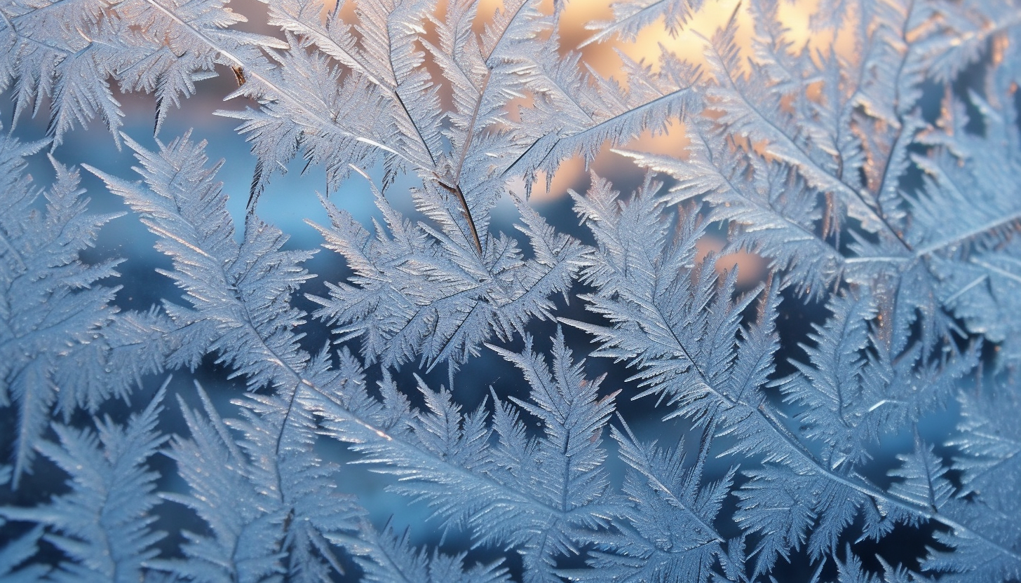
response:
[[[500,4],[500,0],[484,0],[480,11],[495,10]],[[351,2],[344,9],[353,9],[355,5],[355,2]],[[265,6],[257,0],[234,0],[230,6],[248,17],[249,21],[241,27],[243,30],[283,37],[279,30],[263,25],[266,19]],[[331,5],[327,6],[327,10],[332,8]],[[689,61],[699,62],[703,41],[697,35],[711,36],[717,27],[735,14],[735,9],[737,9],[735,17],[738,18],[739,23],[748,26],[748,12],[738,8],[739,1],[737,0],[706,2],[689,27],[677,35],[669,34],[663,27],[653,26],[628,42],[614,40],[602,43],[586,43],[590,40],[592,33],[585,29],[585,23],[590,20],[612,18],[612,8],[609,1],[575,0],[569,2],[564,9],[561,35],[565,47],[580,47],[583,60],[596,72],[604,77],[613,77],[615,74],[619,75],[621,70],[621,54],[635,60],[644,59],[647,63],[655,66],[654,63],[661,50],[666,48]],[[803,48],[824,52],[852,50],[846,40],[840,38],[839,35],[834,36],[825,32],[820,34],[812,30],[810,20],[814,10],[815,3],[812,1],[781,3],[780,13],[784,23],[790,30],[790,38],[793,41],[792,50],[801,50]],[[743,43],[742,48],[748,50],[750,35],[738,35],[737,38],[739,44]],[[237,88],[235,76],[227,66],[217,66],[215,72],[217,74],[215,78],[199,82],[196,85],[197,95],[185,101],[182,108],[169,111],[158,136],[153,136],[155,101],[152,96],[116,94],[116,99],[120,102],[126,113],[124,131],[147,148],[154,148],[157,139],[168,143],[174,138],[189,131],[192,133],[193,140],[205,140],[208,143],[206,152],[210,160],[216,161],[221,158],[224,160],[218,180],[223,181],[224,190],[230,195],[229,210],[236,224],[241,225],[255,159],[249,153],[248,144],[235,132],[237,122],[215,115],[214,112],[218,109],[237,110],[245,107],[256,107],[257,104],[243,98],[225,102],[224,97]],[[619,81],[624,82],[624,80]],[[0,99],[0,113],[3,114],[3,124],[7,128],[13,128],[13,134],[21,140],[44,139],[48,114],[46,105],[43,104],[39,113],[34,117],[22,116],[12,119],[11,100],[9,96],[6,97],[8,98]],[[683,128],[677,125],[663,135],[653,136],[645,133],[629,144],[628,148],[681,156],[685,143]],[[88,163],[116,177],[128,180],[137,178],[131,169],[136,160],[130,149],[120,145],[119,140],[111,136],[98,122],[93,122],[85,130],[80,129],[67,134],[63,143],[53,148],[52,154],[64,164]],[[53,169],[46,159],[45,151],[30,160],[30,168],[37,186],[45,186],[50,183]],[[284,176],[276,176],[261,195],[257,213],[263,221],[276,225],[290,235],[287,247],[319,248],[322,238],[307,222],[328,224],[326,212],[317,198],[317,193],[327,194],[325,169],[315,165],[305,167],[305,161],[300,157],[293,160],[287,169],[288,172]],[[374,179],[379,179],[382,175],[379,167],[364,169]],[[555,176],[551,178],[548,188],[546,188],[544,180],[541,178],[537,180],[537,187],[530,195],[531,203],[557,230],[569,233],[585,242],[591,242],[591,238],[586,229],[579,227],[578,220],[572,210],[572,202],[568,192],[569,190],[584,192],[590,183],[590,172],[611,180],[615,187],[623,192],[637,187],[644,177],[644,172],[636,167],[628,158],[611,151],[610,148],[603,148],[589,168],[585,167],[581,159],[570,160],[563,164]],[[414,177],[405,177],[402,180],[407,182],[408,188],[415,182]],[[88,196],[92,199],[92,211],[128,211],[127,206],[119,198],[109,194],[98,179],[84,171],[82,172],[82,186],[87,189]],[[390,200],[402,212],[414,214],[410,197],[400,194],[402,190],[406,192],[408,188],[402,189],[401,183],[398,182],[389,191],[392,194]],[[517,188],[523,187],[519,185]],[[370,185],[360,177],[354,176],[339,191],[329,192],[329,198],[337,206],[350,211],[363,225],[370,225],[371,220],[378,216],[372,202]],[[504,197],[503,202],[494,212],[492,229],[515,235],[517,231],[514,230],[513,226],[517,218],[517,210]],[[699,250],[703,254],[718,251],[723,248],[724,242],[725,233],[723,231],[711,230],[700,241]],[[115,282],[104,282],[107,285],[121,286],[116,296],[116,303],[123,309],[145,310],[164,299],[175,301],[175,298],[180,298],[179,290],[174,288],[169,280],[154,272],[154,269],[169,268],[169,261],[153,248],[153,243],[154,237],[138,221],[137,216],[128,212],[109,223],[102,230],[98,245],[95,249],[90,250],[85,257],[87,261],[108,257],[127,257],[127,260],[118,268],[121,274],[120,278]],[[732,269],[734,265],[739,269],[738,284],[742,290],[752,289],[767,277],[765,261],[750,253],[726,255],[721,257],[717,263],[721,271]],[[341,281],[348,274],[343,260],[327,250],[321,250],[306,264],[306,268],[317,277],[304,286],[302,292],[313,295],[327,295],[325,282]],[[575,288],[575,292],[584,291],[584,286],[579,285]],[[296,296],[295,302],[305,310],[314,309],[314,304],[302,295]],[[786,335],[785,337],[795,340],[804,339],[811,324],[821,321],[824,315],[820,305],[806,305],[795,301],[787,302],[785,306],[792,307],[793,310],[785,310],[781,321],[781,326],[785,329],[781,332]],[[576,297],[570,304],[566,304],[563,298],[557,299],[556,314],[575,320],[592,319],[584,311],[584,305]],[[328,327],[323,323],[311,321],[304,328],[304,332],[307,334],[303,341],[306,348],[318,350],[329,341]],[[548,339],[554,330],[554,323],[534,324],[531,332],[537,338],[538,349],[548,348]],[[581,358],[592,350],[593,345],[584,334],[575,330],[565,330],[565,333],[575,351],[576,358]],[[507,346],[512,350],[519,350],[521,347],[520,338]],[[787,352],[781,354],[781,358],[799,356],[797,353],[799,349],[796,348],[794,342],[790,342],[787,348]],[[352,346],[352,350],[354,349],[356,346]],[[222,415],[231,417],[234,415],[234,410],[229,401],[244,390],[244,385],[237,380],[228,380],[230,371],[216,365],[214,360],[213,356],[208,356],[203,366],[194,374],[175,373],[171,385],[172,390],[182,395],[187,401],[196,404],[192,383],[198,381],[214,396]],[[378,377],[380,374],[378,369],[378,366],[372,368],[369,371],[370,375]],[[399,372],[398,380],[405,383],[403,386],[414,387],[412,374],[419,374],[426,378],[430,386],[438,388],[448,382],[447,372],[442,370],[442,367],[438,369],[440,370],[426,374],[425,371],[408,365]],[[623,369],[622,366],[604,359],[589,359],[586,371],[590,378],[602,374],[606,375],[606,380],[602,385],[606,393],[618,388],[624,389],[618,397],[620,412],[629,420],[629,424],[639,438],[643,440],[659,439],[661,445],[668,447],[676,446],[678,441],[685,436],[689,437],[689,443],[697,443],[697,435],[689,435],[691,428],[686,422],[681,420],[663,421],[661,418],[665,411],[653,406],[654,400],[652,398],[638,401],[630,399],[630,395],[636,394],[638,391],[635,383],[627,381],[631,372]],[[147,379],[146,386],[137,393],[136,397],[133,397],[137,399],[136,404],[148,402],[148,398],[155,392],[162,378]],[[520,373],[495,353],[486,350],[481,357],[469,361],[461,368],[454,378],[452,389],[458,402],[466,409],[472,409],[486,398],[489,387],[493,387],[496,394],[501,397],[527,398],[528,395],[528,387]],[[418,398],[417,395],[410,394],[411,392],[414,391],[409,391],[409,396],[412,399]],[[129,405],[123,406],[125,410],[129,407]],[[952,410],[926,420],[923,431],[945,434],[950,430],[950,422],[955,415],[956,411]],[[164,418],[164,431],[185,433],[180,414],[176,410],[175,405],[167,406]],[[873,475],[869,477],[879,484],[888,483],[886,471],[895,461],[893,459],[894,453],[911,449],[911,435],[896,435],[884,441],[873,465]],[[611,449],[610,459],[615,472],[615,479],[620,482],[623,476],[623,465],[616,461],[612,440],[607,440],[605,445]],[[336,460],[353,458],[343,446],[324,443],[323,448],[323,453],[328,458]],[[726,443],[721,441],[718,449],[720,451],[726,449]],[[164,478],[160,488],[164,490],[181,489],[183,483],[176,481],[173,465],[169,460],[157,458],[156,463],[165,465],[164,468],[161,468]],[[709,468],[710,475],[707,478],[714,479],[722,476],[732,463],[732,459],[715,460]],[[43,458],[37,461],[37,466],[43,468],[28,479],[29,483],[22,490],[33,492],[34,499],[38,499],[40,491],[56,492],[60,489],[62,478],[59,477],[59,473],[55,469],[47,470],[47,464],[48,461]],[[390,521],[397,527],[398,531],[404,528],[410,529],[411,541],[416,544],[441,544],[443,549],[450,551],[469,548],[469,541],[460,533],[443,533],[440,530],[439,521],[428,521],[429,512],[424,504],[409,505],[405,498],[387,493],[384,486],[390,483],[389,478],[373,474],[356,465],[348,466],[344,476],[345,483],[342,489],[358,495],[362,504],[371,513],[372,520],[377,527]],[[734,502],[732,497],[728,499],[728,503],[731,505],[730,509],[733,509]],[[188,523],[190,519],[186,513],[167,513],[165,508],[162,509],[162,513],[164,516],[157,523],[157,528],[172,533],[180,532],[182,528],[199,528],[197,525]],[[725,509],[723,516],[729,516],[729,512]],[[731,536],[737,534],[733,525],[728,528],[732,530],[727,534]],[[913,557],[923,552],[922,545],[928,538],[920,537],[919,534],[921,533],[917,530],[900,528],[894,531],[893,535],[884,540],[885,546],[883,548],[875,550],[894,563],[906,561],[907,565],[912,567]],[[172,535],[162,542],[162,545],[166,552],[173,552],[180,542],[179,535]],[[865,552],[870,547],[864,543],[859,548],[863,550],[863,555],[866,555]],[[502,554],[499,549],[475,549],[469,560],[488,562]],[[807,565],[807,557],[794,557],[789,566],[780,566],[777,572],[778,579],[785,577],[786,579],[780,580],[807,581],[812,575]],[[878,564],[874,560],[873,565],[867,565],[867,567],[872,568],[877,566]],[[914,566],[917,567],[917,564]],[[513,563],[510,567],[515,568]]]

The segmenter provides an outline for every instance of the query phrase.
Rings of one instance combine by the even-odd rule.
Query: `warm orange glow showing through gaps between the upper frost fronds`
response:
[[[615,78],[618,83],[627,87],[627,80],[622,79],[622,55],[636,62],[649,65],[653,70],[659,68],[661,55],[665,52],[686,60],[692,64],[706,67],[703,51],[714,35],[728,21],[733,19],[737,28],[735,43],[742,55],[742,67],[749,66],[748,57],[752,55],[752,38],[755,35],[753,18],[756,14],[741,0],[708,1],[701,9],[694,12],[684,27],[676,35],[671,35],[661,19],[638,33],[633,41],[623,41],[612,38],[604,42],[586,44],[594,31],[586,29],[586,25],[597,20],[612,20],[614,0],[574,0],[565,5],[558,21],[558,34],[564,51],[580,50],[585,63],[602,77]],[[819,3],[826,0],[794,0],[781,2],[777,7],[777,17],[784,25],[784,40],[789,43],[790,51],[800,53],[810,51],[813,55],[825,55],[832,51],[850,55],[854,51],[855,31],[844,30],[834,34],[828,30],[813,30],[812,15],[817,12]],[[324,0],[324,17],[334,9],[337,0]],[[341,11],[341,17],[348,22],[357,19],[354,13],[356,2],[348,1]],[[481,34],[493,14],[504,7],[503,0],[480,0],[473,29]],[[552,0],[544,0],[541,9],[552,11]],[[439,0],[434,14],[442,17],[446,10],[446,1]],[[580,47],[580,48],[579,48]],[[441,74],[439,74],[441,75]],[[819,87],[810,91],[818,93]],[[514,116],[518,105],[528,106],[530,99],[525,96],[508,107],[508,114]],[[642,132],[628,143],[620,145],[620,149],[651,152],[683,158],[683,152],[688,145],[684,125],[678,120],[667,124],[665,132],[653,135],[649,131]],[[752,149],[762,149],[761,144],[748,144]],[[547,181],[543,173],[538,173],[533,182],[530,199],[533,202],[545,202],[567,196],[569,190],[584,192],[589,184],[589,173],[595,173],[613,181],[632,183],[641,180],[645,171],[636,166],[627,158],[610,149],[604,144],[600,153],[586,167],[580,157],[565,160],[557,171]],[[510,190],[524,194],[522,183],[516,181]],[[709,252],[719,252],[725,241],[719,235],[707,235],[698,242],[699,258]],[[738,268],[738,287],[747,289],[763,280],[766,275],[766,261],[749,252],[737,252],[723,255],[716,260],[718,273]]]

